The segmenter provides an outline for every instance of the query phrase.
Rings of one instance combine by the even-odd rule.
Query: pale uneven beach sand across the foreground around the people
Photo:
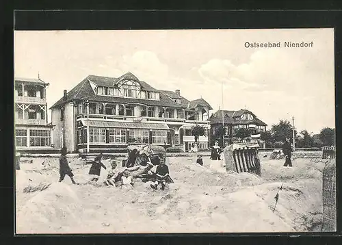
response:
[[[86,183],[89,165],[70,158],[75,180]],[[118,162],[121,159],[117,159]],[[16,171],[17,233],[232,233],[315,231],[321,222],[323,160],[261,159],[261,177],[217,172],[204,157],[169,157],[173,184],[152,190],[136,181],[133,190],[102,185],[57,183],[58,159],[35,158]],[[43,163],[44,162],[44,163]],[[43,163],[43,164],[42,164]],[[105,164],[110,165],[110,160]],[[27,185],[51,184],[24,193]],[[280,185],[279,200],[274,196]],[[318,228],[317,228],[318,227]]]

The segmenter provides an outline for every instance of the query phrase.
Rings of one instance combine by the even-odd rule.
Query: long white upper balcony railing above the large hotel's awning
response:
[[[79,118],[87,118],[86,113],[79,114],[77,119]],[[127,120],[133,121],[133,118],[137,118],[137,116],[122,116],[122,115],[106,115],[106,114],[89,114],[89,118],[99,118],[99,119],[109,119],[109,120]],[[185,118],[157,118],[150,116],[142,116],[142,121],[161,121],[161,122],[183,122],[183,123],[202,123],[202,124],[210,124],[210,121],[202,121],[202,120],[186,120]]]

